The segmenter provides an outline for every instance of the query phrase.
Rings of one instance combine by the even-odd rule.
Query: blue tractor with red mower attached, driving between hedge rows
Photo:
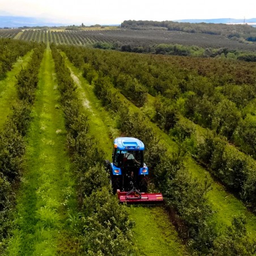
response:
[[[148,167],[144,163],[144,144],[139,139],[119,137],[114,140],[112,163],[106,160],[113,193],[120,202],[161,202],[161,193],[147,193]]]

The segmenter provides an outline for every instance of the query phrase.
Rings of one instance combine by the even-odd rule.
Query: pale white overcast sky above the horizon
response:
[[[0,15],[59,23],[121,24],[123,20],[256,18],[256,0],[0,0]]]

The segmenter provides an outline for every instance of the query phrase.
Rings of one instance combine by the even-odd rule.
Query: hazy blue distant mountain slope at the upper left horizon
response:
[[[61,24],[49,22],[49,20],[44,18],[32,18],[32,17],[22,17],[22,16],[0,16],[0,28],[19,28],[19,27],[54,27],[61,25],[70,25],[70,24]]]

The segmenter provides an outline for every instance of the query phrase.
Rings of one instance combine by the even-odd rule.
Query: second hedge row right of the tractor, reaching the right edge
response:
[[[175,116],[169,134],[179,143],[186,141],[187,150],[199,164],[210,170],[234,194],[256,211],[256,164],[227,142],[223,136],[208,129],[199,129],[182,116]]]

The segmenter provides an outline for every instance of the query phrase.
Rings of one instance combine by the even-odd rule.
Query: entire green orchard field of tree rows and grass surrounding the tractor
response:
[[[255,253],[254,62],[231,51],[200,58],[92,48],[181,44],[250,54],[254,43],[167,29],[0,36],[19,39],[0,44],[5,255]],[[163,193],[163,205],[118,203],[104,168],[117,136],[145,143],[150,190]]]

